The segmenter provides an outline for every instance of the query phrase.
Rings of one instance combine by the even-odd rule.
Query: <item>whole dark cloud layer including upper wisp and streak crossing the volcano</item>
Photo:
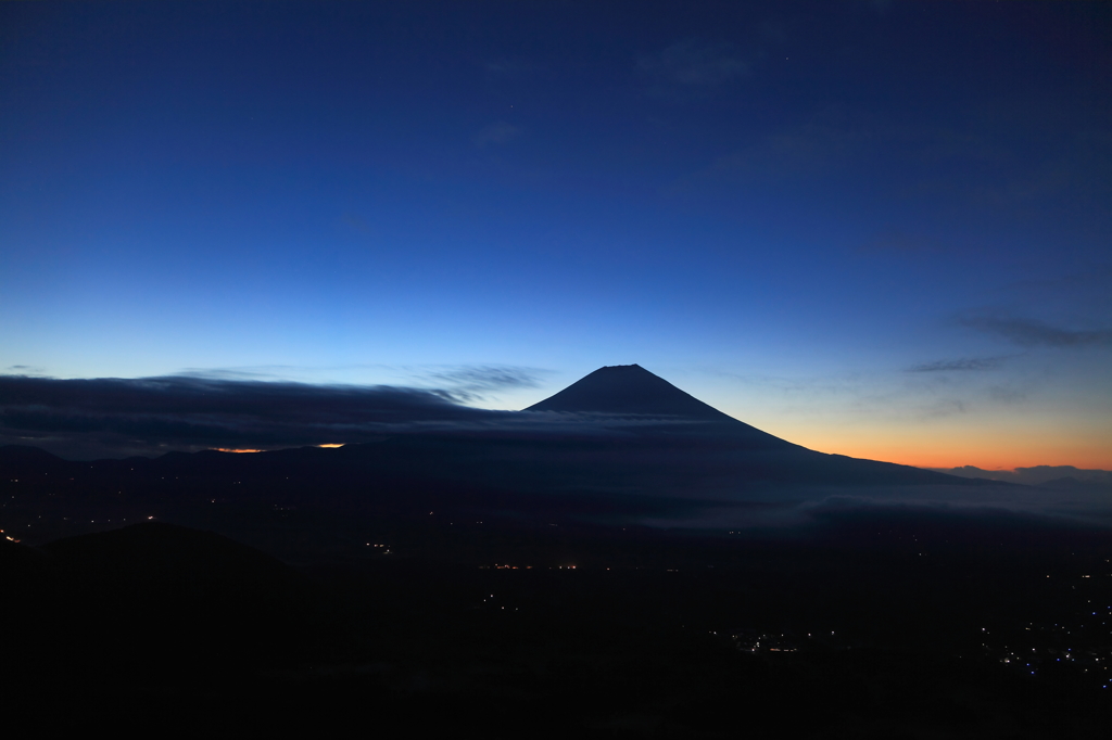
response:
[[[275,449],[437,432],[620,433],[667,419],[490,411],[463,402],[532,387],[516,368],[425,373],[440,388],[322,386],[205,374],[59,380],[0,376],[0,444],[30,444],[70,459],[169,450]]]

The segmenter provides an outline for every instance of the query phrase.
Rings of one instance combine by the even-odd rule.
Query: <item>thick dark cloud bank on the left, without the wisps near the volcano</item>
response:
[[[63,456],[349,442],[499,416],[459,406],[448,391],[390,386],[0,376],[0,443]]]

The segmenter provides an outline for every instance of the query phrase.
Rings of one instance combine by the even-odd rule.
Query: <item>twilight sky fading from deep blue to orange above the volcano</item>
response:
[[[2,373],[1112,469],[1109,3],[9,2],[0,141]]]

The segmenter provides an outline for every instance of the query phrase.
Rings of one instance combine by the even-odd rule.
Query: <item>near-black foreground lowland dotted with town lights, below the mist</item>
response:
[[[1093,531],[890,517],[759,541],[250,513],[256,539],[272,527],[261,547],[311,528],[342,547],[295,569],[158,523],[3,540],[6,726],[1088,740],[1112,720]]]

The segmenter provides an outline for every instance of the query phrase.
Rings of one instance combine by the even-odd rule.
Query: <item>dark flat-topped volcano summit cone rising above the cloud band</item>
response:
[[[682,417],[705,421],[736,421],[685,393],[639,364],[615,364],[595,370],[526,411],[613,413]]]

